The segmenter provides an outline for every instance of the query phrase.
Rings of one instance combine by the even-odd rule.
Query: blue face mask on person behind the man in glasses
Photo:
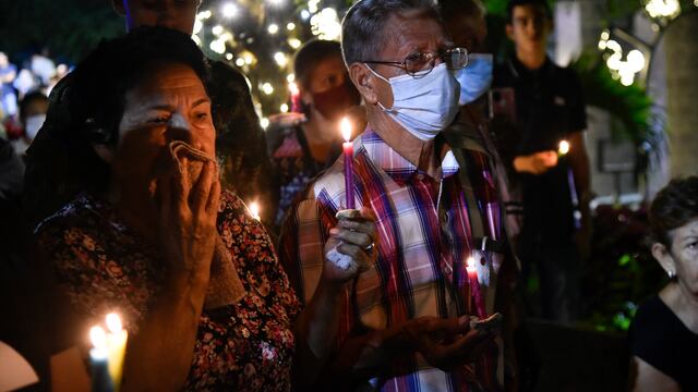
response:
[[[468,65],[456,71],[460,84],[458,105],[468,105],[480,98],[492,85],[492,54],[472,53],[468,56]]]

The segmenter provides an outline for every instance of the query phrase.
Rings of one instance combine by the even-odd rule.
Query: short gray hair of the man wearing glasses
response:
[[[341,52],[347,68],[354,62],[380,60],[375,57],[389,37],[383,32],[392,15],[417,11],[441,21],[434,0],[360,0],[341,22]]]

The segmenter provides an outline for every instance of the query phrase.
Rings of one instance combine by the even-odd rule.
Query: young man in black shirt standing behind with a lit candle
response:
[[[496,128],[496,136],[510,180],[521,187],[518,256],[524,279],[538,267],[542,317],[568,323],[578,313],[591,229],[586,109],[575,72],[545,53],[553,28],[547,2],[510,0],[507,12],[516,53],[495,68],[493,105],[514,123],[506,134]],[[563,140],[570,148],[558,158]]]

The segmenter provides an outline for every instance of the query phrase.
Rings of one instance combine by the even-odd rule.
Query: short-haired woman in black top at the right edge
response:
[[[698,391],[698,176],[671,181],[649,220],[652,256],[669,283],[630,327],[630,390]]]

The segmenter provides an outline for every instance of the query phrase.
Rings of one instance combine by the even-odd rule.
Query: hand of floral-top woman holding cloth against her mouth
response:
[[[176,164],[158,181],[164,256],[171,273],[185,273],[207,283],[217,235],[220,183],[213,162],[205,163],[196,184],[189,183],[185,158],[181,172]]]

